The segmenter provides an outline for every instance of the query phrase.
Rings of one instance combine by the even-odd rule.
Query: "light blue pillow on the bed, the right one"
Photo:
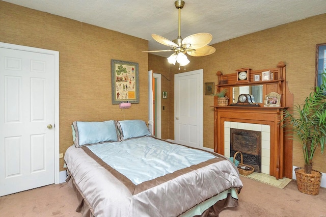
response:
[[[121,134],[121,140],[151,135],[145,121],[142,120],[118,121],[118,129]]]

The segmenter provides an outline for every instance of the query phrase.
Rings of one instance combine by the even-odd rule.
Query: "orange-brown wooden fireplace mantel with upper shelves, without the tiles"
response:
[[[280,107],[264,107],[263,103],[259,107],[253,106],[218,106],[214,97],[214,152],[224,155],[224,122],[242,122],[269,125],[270,127],[270,166],[269,175],[282,179],[283,177],[292,178],[292,139],[285,137],[285,131],[289,130],[282,127],[283,109],[293,106],[293,94],[288,90],[285,79],[285,64],[280,62],[277,68],[251,71],[249,84],[252,82],[254,74],[262,71],[273,71],[274,80],[259,82],[263,85],[264,95],[270,92],[281,94]],[[220,73],[219,73],[220,74]],[[218,76],[220,76],[218,74]],[[228,84],[216,85],[218,91],[228,89],[232,93],[232,87],[239,86],[236,82],[236,73],[228,74]],[[232,97],[229,95],[229,98]],[[231,102],[229,102],[230,104]]]

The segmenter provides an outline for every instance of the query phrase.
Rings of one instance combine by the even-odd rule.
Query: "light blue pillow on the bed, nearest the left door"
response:
[[[85,145],[94,145],[104,142],[118,142],[115,121],[72,123],[75,130],[74,144],[76,148]]]

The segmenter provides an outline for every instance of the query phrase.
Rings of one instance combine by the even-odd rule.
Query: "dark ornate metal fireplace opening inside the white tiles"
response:
[[[242,153],[243,164],[250,165],[255,172],[261,173],[261,132],[230,128],[230,156]],[[236,159],[241,162],[240,154]]]

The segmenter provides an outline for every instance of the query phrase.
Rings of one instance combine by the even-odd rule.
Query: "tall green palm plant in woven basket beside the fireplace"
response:
[[[321,173],[312,170],[313,156],[320,149],[323,153],[326,143],[326,69],[321,74],[322,84],[315,87],[303,104],[293,106],[293,111],[283,110],[283,127],[291,127],[293,139],[302,145],[304,168],[295,168],[299,191],[318,195]]]

